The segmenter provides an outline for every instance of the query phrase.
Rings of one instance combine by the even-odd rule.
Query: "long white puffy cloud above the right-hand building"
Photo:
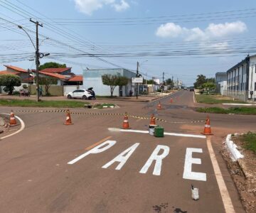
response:
[[[246,30],[247,26],[242,21],[218,24],[210,23],[204,30],[201,28],[183,28],[175,23],[165,23],[159,26],[156,30],[156,35],[161,38],[180,37],[184,40],[209,40],[243,33]]]

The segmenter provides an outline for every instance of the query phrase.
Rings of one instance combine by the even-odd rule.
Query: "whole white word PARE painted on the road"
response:
[[[69,165],[73,165],[74,163],[77,163],[82,158],[85,158],[87,155],[90,154],[97,154],[102,153],[106,151],[107,149],[111,148],[116,144],[117,141],[105,141],[101,143],[98,146],[95,146],[94,148],[90,149],[86,153],[83,153],[82,155],[78,156],[78,158],[75,158],[73,160],[70,160],[68,162]],[[105,165],[102,165],[102,168],[109,168],[110,165],[113,163],[119,163],[115,170],[121,170],[124,164],[127,162],[129,157],[134,153],[134,151],[137,149],[140,143],[134,143],[132,146],[127,148],[126,150],[122,151],[119,155],[117,155],[115,158],[110,160],[110,162],[106,163]],[[146,161],[146,163],[143,165],[142,169],[139,170],[139,173],[145,174],[149,170],[150,166],[154,164],[154,170],[153,175],[161,175],[161,165],[164,158],[166,158],[167,155],[169,155],[169,146],[164,145],[157,145],[154,151],[151,153],[149,159]],[[161,154],[159,154],[161,153]],[[206,181],[206,173],[196,173],[192,171],[192,165],[193,164],[201,164],[201,158],[193,158],[193,153],[203,153],[202,148],[186,148],[186,157],[184,162],[184,169],[183,169],[183,179],[188,180],[201,180]]]

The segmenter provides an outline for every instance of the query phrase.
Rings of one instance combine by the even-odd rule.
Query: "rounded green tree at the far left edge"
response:
[[[12,94],[14,92],[14,87],[21,86],[21,77],[18,75],[0,75],[0,85],[5,86],[4,92]]]

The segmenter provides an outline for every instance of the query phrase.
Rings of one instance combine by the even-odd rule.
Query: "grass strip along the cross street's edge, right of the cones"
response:
[[[198,112],[205,113],[216,113],[216,114],[252,114],[256,115],[255,107],[230,107],[229,109],[224,109],[220,107],[205,107],[196,109]]]

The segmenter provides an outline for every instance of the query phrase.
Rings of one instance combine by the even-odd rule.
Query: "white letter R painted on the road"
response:
[[[161,149],[164,150],[164,152],[161,155],[157,155]],[[169,147],[168,146],[162,146],[162,145],[156,146],[154,152],[149,157],[149,160],[146,161],[145,165],[143,166],[142,170],[139,171],[139,173],[146,173],[147,170],[149,169],[150,165],[153,163],[153,161],[156,160],[153,175],[160,175],[161,174],[162,160],[168,154],[169,154]]]

